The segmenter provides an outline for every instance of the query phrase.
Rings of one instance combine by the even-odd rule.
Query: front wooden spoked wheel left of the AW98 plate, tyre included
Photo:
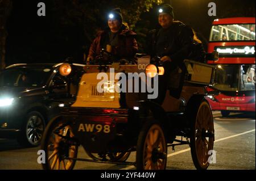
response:
[[[46,129],[42,140],[42,149],[46,151],[46,163],[42,164],[46,170],[72,170],[77,158],[78,146],[69,138],[74,137],[72,128],[60,121],[53,122]]]

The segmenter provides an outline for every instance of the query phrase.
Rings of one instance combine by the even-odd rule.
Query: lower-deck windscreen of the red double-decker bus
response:
[[[255,90],[255,65],[217,65],[214,82],[220,91]]]

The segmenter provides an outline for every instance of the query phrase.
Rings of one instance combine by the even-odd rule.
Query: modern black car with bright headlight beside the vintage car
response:
[[[75,78],[84,67],[71,64],[71,80],[59,74],[62,64],[14,64],[1,71],[0,138],[15,138],[23,146],[40,144],[48,121],[75,100]]]

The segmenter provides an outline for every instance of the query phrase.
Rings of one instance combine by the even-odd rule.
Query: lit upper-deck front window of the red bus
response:
[[[255,24],[221,24],[212,26],[210,41],[255,40]]]

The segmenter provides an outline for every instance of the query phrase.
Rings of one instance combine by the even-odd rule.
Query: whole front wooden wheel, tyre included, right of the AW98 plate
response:
[[[166,138],[160,125],[147,123],[139,134],[137,143],[137,169],[163,170],[167,163]]]

